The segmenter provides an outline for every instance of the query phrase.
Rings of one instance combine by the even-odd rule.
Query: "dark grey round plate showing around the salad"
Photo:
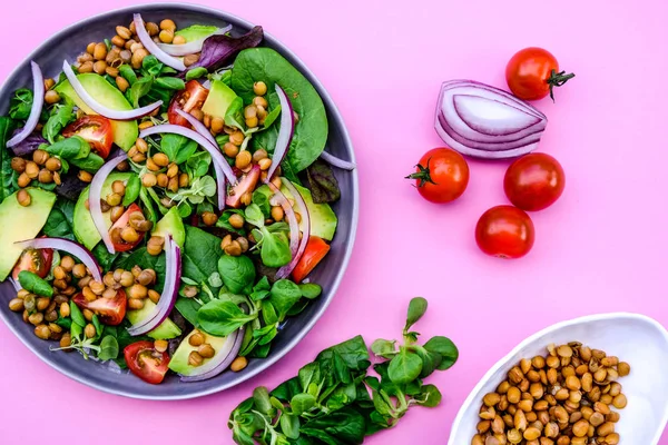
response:
[[[232,33],[235,36],[242,34],[252,28],[250,23],[237,17],[194,4],[153,3],[119,9],[92,17],[75,23],[48,39],[16,68],[0,89],[0,115],[7,112],[11,93],[16,89],[32,88],[30,60],[35,60],[40,65],[45,76],[55,77],[61,71],[60,67],[65,58],[73,61],[86,49],[88,42],[101,41],[104,38],[112,37],[115,27],[117,24],[127,26],[135,12],[140,12],[149,21],[170,18],[179,27],[191,23],[222,27],[232,23],[234,26]],[[340,158],[354,161],[353,147],[343,119],[321,82],[289,49],[272,36],[265,33],[263,44],[281,52],[315,86],[323,98],[330,118],[327,151]],[[82,384],[108,393],[147,399],[184,399],[213,394],[235,386],[267,369],[295,347],[315,325],[332,298],[334,298],[353,249],[358,211],[357,174],[342,170],[337,170],[335,174],[342,192],[341,201],[333,206],[338,216],[338,229],[326,260],[317,267],[312,276],[314,281],[323,286],[323,295],[313,301],[304,313],[287,322],[276,337],[269,357],[266,359],[252,359],[248,367],[242,373],[226,372],[209,380],[187,384],[180,383],[178,377],[171,375],[161,385],[149,385],[125,372],[116,374],[102,364],[87,362],[79,354],[50,352],[49,346],[52,346],[53,343],[37,338],[32,327],[23,323],[18,314],[13,314],[8,309],[8,301],[13,296],[13,289],[8,283],[0,284],[0,317],[26,346],[42,360]]]

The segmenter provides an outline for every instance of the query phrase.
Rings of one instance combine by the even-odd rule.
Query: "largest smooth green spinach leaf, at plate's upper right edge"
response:
[[[287,160],[296,172],[304,170],[317,159],[327,140],[327,116],[321,97],[295,67],[269,48],[247,49],[235,59],[232,69],[232,88],[243,98],[244,103],[250,103],[255,97],[253,85],[256,81],[264,81],[267,85],[271,109],[279,106],[274,87],[276,82],[287,93],[298,116],[287,151]],[[273,152],[279,130],[276,123],[256,134],[252,141],[253,147],[265,148],[268,152]]]

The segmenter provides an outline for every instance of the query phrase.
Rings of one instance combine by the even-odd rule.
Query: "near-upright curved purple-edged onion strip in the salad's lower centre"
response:
[[[154,330],[160,323],[165,322],[165,318],[167,318],[171,309],[174,309],[174,304],[178,297],[181,259],[180,248],[174,239],[171,239],[171,235],[167,236],[165,239],[165,286],[163,288],[163,294],[160,294],[160,300],[144,320],[128,328],[128,334],[131,336],[144,335]]]

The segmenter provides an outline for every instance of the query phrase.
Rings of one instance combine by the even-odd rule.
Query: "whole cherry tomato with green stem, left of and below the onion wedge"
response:
[[[424,154],[416,171],[418,191],[431,202],[450,202],[462,196],[469,185],[469,165],[462,155],[450,148],[434,148]]]

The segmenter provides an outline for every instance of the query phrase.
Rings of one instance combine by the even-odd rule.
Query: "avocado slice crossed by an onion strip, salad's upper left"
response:
[[[77,79],[81,82],[86,91],[90,93],[98,102],[112,110],[126,111],[132,110],[132,106],[127,101],[119,89],[109,83],[104,77],[89,72],[78,75]],[[81,98],[75,92],[69,80],[65,80],[56,87],[56,92],[65,97],[68,101],[73,102],[87,115],[96,115]],[[128,151],[139,136],[139,128],[136,120],[111,120],[111,129],[114,130],[114,142]]]

